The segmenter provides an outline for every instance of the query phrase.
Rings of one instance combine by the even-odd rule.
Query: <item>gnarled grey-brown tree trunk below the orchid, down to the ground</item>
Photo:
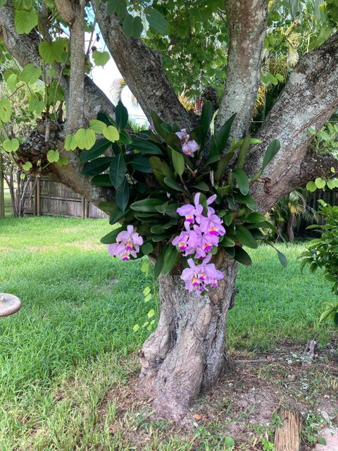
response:
[[[215,264],[225,277],[205,296],[184,289],[179,268],[159,279],[161,316],[139,353],[139,387],[154,399],[158,417],[181,419],[199,392],[208,390],[227,366],[225,322],[237,262],[224,259]]]

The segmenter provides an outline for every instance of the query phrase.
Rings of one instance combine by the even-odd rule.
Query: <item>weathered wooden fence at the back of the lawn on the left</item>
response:
[[[27,190],[25,201],[25,214],[102,219],[108,217],[80,194],[61,183],[44,178],[30,181],[30,189]]]

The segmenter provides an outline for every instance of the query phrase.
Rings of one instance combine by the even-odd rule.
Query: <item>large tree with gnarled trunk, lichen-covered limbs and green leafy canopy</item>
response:
[[[149,121],[154,111],[161,121],[194,129],[198,118],[184,109],[177,94],[184,91],[194,97],[211,85],[206,92],[213,109],[218,109],[216,132],[234,114],[230,136],[234,142],[256,130],[245,173],[256,174],[268,145],[280,141],[281,150],[261,174],[260,183],[251,183],[251,194],[262,213],[285,194],[308,180],[325,177],[337,166],[330,154],[313,152],[308,132],[309,127],[322,128],[338,108],[335,0],[327,1],[326,10],[321,9],[323,17],[311,16],[312,22],[306,1],[292,2],[298,5],[292,10],[289,2],[267,0],[158,0],[151,6],[126,0],[108,0],[107,4],[85,4],[83,0],[4,3],[0,3],[4,5],[0,8],[4,44],[24,69],[27,65],[39,69],[33,73],[39,74],[45,86],[44,99],[39,100],[44,102],[44,130],[37,130],[34,140],[27,140],[18,150],[23,163],[32,163],[30,173],[64,183],[96,205],[115,195],[112,187],[93,185],[82,173],[81,152],[65,152],[65,147],[79,144],[73,137],[65,142],[65,136],[74,136],[79,129],[90,130],[89,121],[97,113],[115,117],[115,106],[89,75],[84,75],[90,73],[89,56],[96,64],[106,59],[92,42],[84,49],[84,27],[96,33],[88,20],[90,11],[94,11],[104,42]],[[144,17],[149,23],[146,30]],[[269,63],[261,79],[261,61],[267,50],[284,56],[294,49],[290,42],[284,45],[289,27],[299,32],[299,63],[291,72],[285,70],[285,75]],[[306,30],[307,39],[301,40],[301,32],[306,36]],[[14,75],[22,78],[20,70]],[[27,75],[26,80],[32,79]],[[271,95],[264,102],[263,123],[258,128],[251,120],[262,87]],[[56,114],[56,101],[63,98],[65,123],[62,111]],[[153,114],[153,118],[158,116]],[[91,131],[80,135],[86,137],[82,149],[91,147],[93,138],[95,142]],[[209,139],[206,137],[207,149],[211,147]],[[68,161],[58,161],[65,158]],[[234,168],[233,160],[229,171]],[[194,397],[210,388],[227,364],[225,323],[234,297],[237,261],[222,251],[215,256],[215,264],[224,278],[204,297],[183,289],[179,266],[159,278],[158,327],[140,351],[140,387],[154,398],[158,416],[180,419]]]

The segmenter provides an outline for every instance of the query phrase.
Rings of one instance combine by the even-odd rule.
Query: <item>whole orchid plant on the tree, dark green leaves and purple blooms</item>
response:
[[[110,214],[111,224],[122,223],[101,242],[123,260],[151,255],[156,278],[180,264],[185,288],[203,294],[223,278],[211,263],[219,247],[242,264],[251,264],[242,246],[256,248],[263,237],[260,229],[270,227],[257,211],[249,183],[260,180],[280,142],[268,146],[261,169],[249,178],[244,161],[257,140],[248,136],[228,145],[234,116],[215,134],[210,132],[209,101],[200,124],[189,132],[156,113],[152,118],[149,130],[129,135],[127,110],[119,103],[116,122],[101,113],[91,122],[104,137],[82,152],[82,161],[88,161],[83,173],[93,175],[94,185],[115,187],[115,199],[101,208]],[[109,150],[112,156],[101,157]]]

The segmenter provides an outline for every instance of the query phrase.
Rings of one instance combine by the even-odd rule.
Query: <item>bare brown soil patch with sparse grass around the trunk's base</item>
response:
[[[304,361],[302,351],[284,343],[276,352],[253,358],[233,355],[236,371],[201,395],[180,425],[154,421],[151,402],[137,393],[135,372],[126,385],[108,391],[99,407],[99,421],[103,424],[108,405],[115,403],[109,429],[112,434],[122,431],[126,443],[137,450],[149,445],[157,433],[160,443],[173,436],[191,440],[192,450],[201,449],[202,438],[230,436],[236,443],[234,450],[265,451],[266,443],[273,443],[280,421],[277,412],[283,406],[301,412],[301,450],[311,450],[322,430],[338,425],[338,358],[332,345],[312,364]]]

